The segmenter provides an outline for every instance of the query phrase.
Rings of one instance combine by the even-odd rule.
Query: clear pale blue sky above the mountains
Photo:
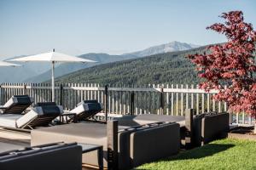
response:
[[[207,31],[218,15],[242,10],[256,28],[251,0],[0,0],[0,59],[56,51],[123,54],[166,42],[224,42]]]

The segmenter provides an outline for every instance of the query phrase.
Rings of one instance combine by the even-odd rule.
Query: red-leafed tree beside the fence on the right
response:
[[[224,34],[228,41],[208,47],[204,54],[189,55],[189,59],[203,78],[201,88],[218,89],[214,99],[227,102],[230,111],[245,111],[255,117],[256,31],[244,22],[241,11],[231,11],[220,17],[224,18],[224,24],[213,24],[207,29]]]

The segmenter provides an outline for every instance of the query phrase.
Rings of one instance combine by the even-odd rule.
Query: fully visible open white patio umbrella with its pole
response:
[[[55,63],[56,62],[82,62],[82,63],[96,62],[90,59],[82,59],[82,58],[67,55],[67,54],[56,53],[55,49],[53,49],[53,51],[49,53],[31,55],[31,56],[20,57],[20,58],[10,59],[10,60],[21,61],[21,62],[28,62],[28,61],[51,62],[52,64],[52,69],[51,69],[52,101],[55,101]]]

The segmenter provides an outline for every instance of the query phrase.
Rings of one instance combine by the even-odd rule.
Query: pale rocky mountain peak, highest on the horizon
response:
[[[189,50],[192,48],[199,48],[199,47],[200,47],[199,45],[195,45],[191,43],[173,41],[173,42],[168,42],[165,44],[153,46],[150,48],[146,48],[146,49],[143,49],[142,51],[131,53],[131,55],[135,55],[137,57],[144,57],[144,56],[149,56],[154,54],[183,51],[183,50]]]

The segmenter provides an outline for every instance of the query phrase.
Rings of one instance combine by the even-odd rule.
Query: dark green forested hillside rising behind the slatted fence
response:
[[[81,82],[102,84],[152,84],[199,82],[188,54],[202,53],[205,47],[187,51],[155,54],[140,59],[129,59],[96,65],[56,79],[56,82]]]

